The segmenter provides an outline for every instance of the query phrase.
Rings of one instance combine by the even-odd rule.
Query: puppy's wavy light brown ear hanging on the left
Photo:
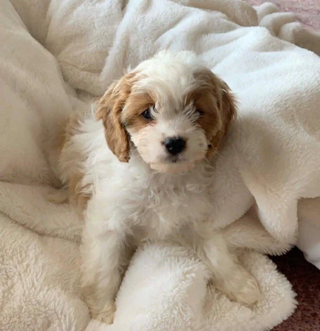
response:
[[[115,81],[97,103],[97,119],[102,119],[105,136],[112,153],[121,162],[130,159],[130,139],[121,122],[121,112],[131,91],[130,78],[126,76]]]

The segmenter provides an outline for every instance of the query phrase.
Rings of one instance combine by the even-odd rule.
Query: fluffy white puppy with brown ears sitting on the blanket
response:
[[[159,52],[112,83],[66,130],[59,174],[84,210],[82,273],[92,317],[111,323],[132,251],[146,240],[193,248],[234,301],[257,281],[212,231],[212,160],[236,115],[230,89],[192,52]]]

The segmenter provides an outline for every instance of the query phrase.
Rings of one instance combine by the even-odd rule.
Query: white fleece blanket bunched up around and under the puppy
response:
[[[0,329],[253,331],[286,319],[294,292],[259,252],[285,250],[299,217],[299,243],[320,261],[319,237],[310,240],[320,214],[320,60],[293,44],[319,54],[319,41],[272,4],[1,0]],[[81,300],[81,224],[70,206],[46,201],[54,185],[48,141],[74,108],[163,48],[194,50],[237,94],[239,121],[217,159],[212,219],[230,224],[230,245],[259,251],[239,256],[263,300],[252,309],[230,302],[207,285],[191,252],[154,243],[130,263],[114,324],[101,325]],[[297,211],[301,197],[315,199],[299,201]],[[241,217],[254,201],[283,243],[267,232],[254,237],[257,214]]]

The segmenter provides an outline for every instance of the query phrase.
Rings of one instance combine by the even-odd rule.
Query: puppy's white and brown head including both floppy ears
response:
[[[120,161],[130,148],[159,172],[186,172],[214,153],[236,110],[226,83],[190,52],[160,52],[100,99],[106,141]]]

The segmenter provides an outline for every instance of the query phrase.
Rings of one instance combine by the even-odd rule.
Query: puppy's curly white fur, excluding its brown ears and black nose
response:
[[[79,170],[81,186],[92,196],[85,212],[83,285],[92,316],[101,321],[112,321],[130,252],[149,240],[193,248],[230,299],[251,305],[260,297],[257,281],[208,221],[213,187],[212,166],[205,157],[208,141],[190,118],[191,110],[179,110],[183,93],[194,84],[192,74],[202,68],[190,52],[161,52],[136,68],[145,77],[139,88],[148,86],[157,95],[155,107],[161,112],[154,114],[154,126],[137,133],[128,129],[133,143],[128,163],[107,148],[103,124],[93,112],[83,116],[61,154],[63,180]],[[172,135],[188,139],[181,163],[163,161],[161,139]]]

